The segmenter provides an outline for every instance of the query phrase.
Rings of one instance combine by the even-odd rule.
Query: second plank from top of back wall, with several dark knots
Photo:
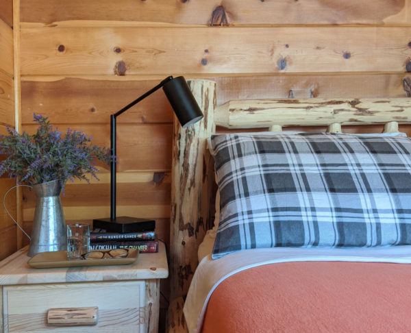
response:
[[[410,36],[411,27],[27,28],[21,74],[405,72]]]

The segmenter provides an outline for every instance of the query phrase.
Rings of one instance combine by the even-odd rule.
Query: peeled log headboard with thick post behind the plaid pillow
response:
[[[204,119],[184,129],[174,121],[171,180],[169,332],[184,328],[183,297],[197,267],[197,250],[214,223],[214,164],[206,138],[216,125],[230,129],[266,127],[281,132],[286,126],[384,124],[384,132],[398,132],[399,123],[411,123],[410,98],[378,99],[260,99],[228,101],[216,107],[216,83],[188,82]],[[184,330],[183,330],[184,332]]]

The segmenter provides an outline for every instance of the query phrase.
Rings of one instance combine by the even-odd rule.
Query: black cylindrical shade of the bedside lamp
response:
[[[182,127],[188,127],[203,118],[203,113],[184,77],[171,79],[164,84],[163,90]]]

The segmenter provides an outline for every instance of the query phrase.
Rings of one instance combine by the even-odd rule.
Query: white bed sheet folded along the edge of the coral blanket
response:
[[[184,317],[190,333],[199,332],[208,300],[227,277],[251,267],[279,262],[347,261],[411,264],[411,245],[368,248],[291,248],[249,249],[212,260],[205,256],[192,278],[184,304]]]

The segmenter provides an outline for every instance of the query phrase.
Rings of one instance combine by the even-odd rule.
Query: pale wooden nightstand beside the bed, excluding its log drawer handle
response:
[[[32,269],[27,247],[0,262],[4,333],[158,332],[160,279],[169,275],[164,244],[157,254],[140,254],[134,264]],[[98,307],[94,326],[55,327],[50,308]]]

